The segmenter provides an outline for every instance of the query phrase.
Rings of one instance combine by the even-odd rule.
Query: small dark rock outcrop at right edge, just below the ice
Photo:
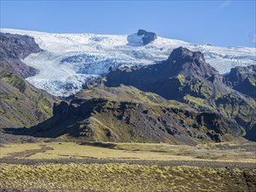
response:
[[[224,78],[227,86],[256,98],[256,65],[237,66]]]

